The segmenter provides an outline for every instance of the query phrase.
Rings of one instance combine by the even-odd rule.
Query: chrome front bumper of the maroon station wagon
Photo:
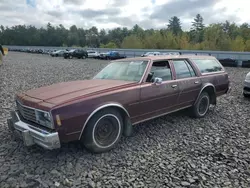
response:
[[[45,149],[61,147],[57,132],[48,132],[22,121],[16,111],[11,112],[11,119],[7,120],[9,129],[23,140],[25,146],[39,145]]]

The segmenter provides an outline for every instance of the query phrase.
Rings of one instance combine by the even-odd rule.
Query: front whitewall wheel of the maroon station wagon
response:
[[[123,132],[123,119],[112,108],[97,112],[88,122],[81,142],[93,153],[107,152],[119,142]]]

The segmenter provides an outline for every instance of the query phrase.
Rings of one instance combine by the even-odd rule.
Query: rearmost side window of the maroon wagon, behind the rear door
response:
[[[196,64],[202,74],[223,70],[221,65],[214,59],[192,59],[192,61]]]

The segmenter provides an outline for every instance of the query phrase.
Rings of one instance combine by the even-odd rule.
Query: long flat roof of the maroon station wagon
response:
[[[145,60],[145,61],[157,61],[157,60],[165,60],[165,59],[215,59],[214,56],[209,55],[159,55],[159,56],[148,56],[148,57],[133,57],[126,59],[118,59],[115,61],[136,61],[136,60]]]

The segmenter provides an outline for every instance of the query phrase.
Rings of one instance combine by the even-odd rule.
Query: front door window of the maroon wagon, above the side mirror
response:
[[[172,72],[168,61],[153,62],[146,82],[153,82],[156,77],[161,78],[162,81],[172,80]]]

